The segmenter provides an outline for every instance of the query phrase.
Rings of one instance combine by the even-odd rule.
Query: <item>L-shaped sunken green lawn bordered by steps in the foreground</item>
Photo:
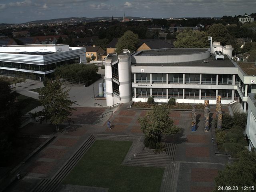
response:
[[[160,191],[164,168],[121,165],[131,145],[96,140],[63,183],[109,188],[108,192]]]

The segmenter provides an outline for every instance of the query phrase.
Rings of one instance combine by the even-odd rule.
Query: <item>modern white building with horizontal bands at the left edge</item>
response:
[[[0,74],[36,79],[52,76],[57,66],[86,63],[86,49],[68,45],[36,44],[0,47]]]

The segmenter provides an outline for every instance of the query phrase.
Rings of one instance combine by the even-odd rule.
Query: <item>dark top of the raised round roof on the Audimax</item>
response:
[[[134,56],[158,56],[158,55],[186,55],[196,54],[208,51],[207,48],[167,48],[167,49],[155,49],[146,50],[135,54]]]

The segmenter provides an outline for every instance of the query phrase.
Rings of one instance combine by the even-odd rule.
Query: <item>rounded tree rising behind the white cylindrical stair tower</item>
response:
[[[136,45],[138,44],[138,42],[138,35],[134,34],[131,31],[126,31],[116,43],[116,52],[121,53],[123,49],[128,49],[132,53],[136,50]]]

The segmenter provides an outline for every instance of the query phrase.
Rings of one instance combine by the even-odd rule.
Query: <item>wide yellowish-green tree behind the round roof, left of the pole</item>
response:
[[[208,48],[208,34],[206,32],[186,30],[177,35],[175,47],[178,48]]]

